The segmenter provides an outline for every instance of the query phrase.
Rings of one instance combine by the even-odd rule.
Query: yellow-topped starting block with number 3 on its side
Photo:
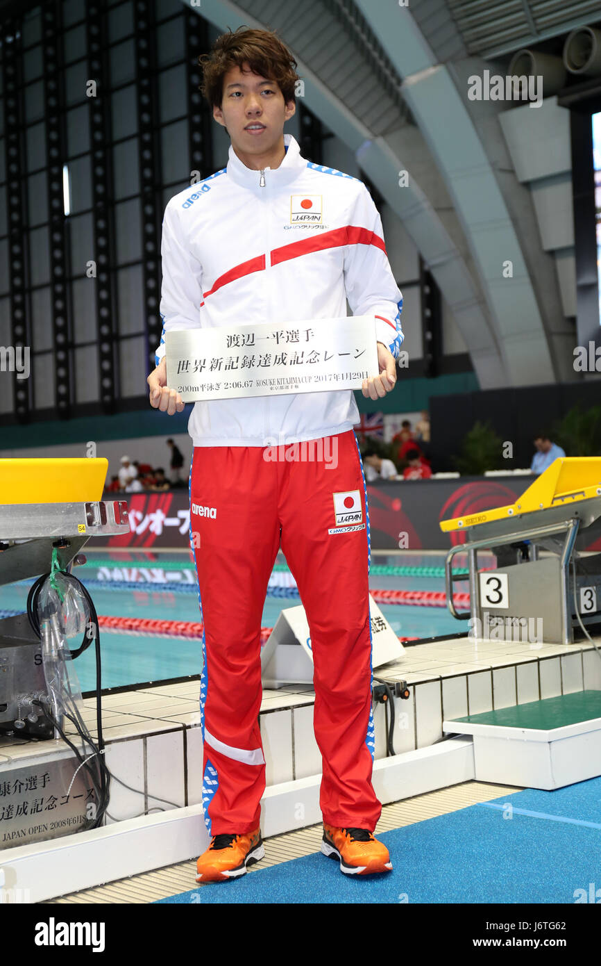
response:
[[[558,459],[514,503],[440,527],[466,533],[447,555],[445,586],[449,610],[471,618],[474,637],[525,639],[527,629],[529,640],[573,643],[574,627],[601,620],[601,554],[578,553],[601,536],[601,458]],[[496,548],[497,570],[478,570],[484,548]],[[466,551],[470,611],[458,613],[452,560]]]

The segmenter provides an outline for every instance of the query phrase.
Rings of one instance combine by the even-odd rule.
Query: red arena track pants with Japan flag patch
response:
[[[369,517],[354,431],[271,448],[196,446],[190,510],[205,624],[201,729],[209,836],[241,835],[260,824],[260,626],[280,546],[311,631],[323,819],[372,832],[382,807],[371,786]]]

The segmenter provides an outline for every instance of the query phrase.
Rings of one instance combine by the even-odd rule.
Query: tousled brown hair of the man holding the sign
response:
[[[296,61],[271,30],[250,30],[238,27],[235,32],[222,34],[213,43],[209,54],[201,54],[199,64],[203,68],[201,92],[211,108],[221,107],[223,101],[223,78],[232,67],[242,70],[248,64],[253,73],[273,80],[284,95],[285,103],[294,100]]]

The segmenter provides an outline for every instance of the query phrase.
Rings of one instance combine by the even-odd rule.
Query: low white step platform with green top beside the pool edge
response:
[[[551,791],[601,775],[601,691],[456,718],[443,731],[472,735],[477,781]]]

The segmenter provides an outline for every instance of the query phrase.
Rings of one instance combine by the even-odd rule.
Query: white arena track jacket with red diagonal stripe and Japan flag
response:
[[[279,168],[228,166],[175,195],[161,244],[163,320],[171,329],[287,324],[374,315],[395,358],[402,296],[382,222],[363,182],[301,157],[284,135]],[[234,375],[232,373],[232,375]],[[351,389],[195,403],[195,446],[267,446],[344,433],[359,422]]]

